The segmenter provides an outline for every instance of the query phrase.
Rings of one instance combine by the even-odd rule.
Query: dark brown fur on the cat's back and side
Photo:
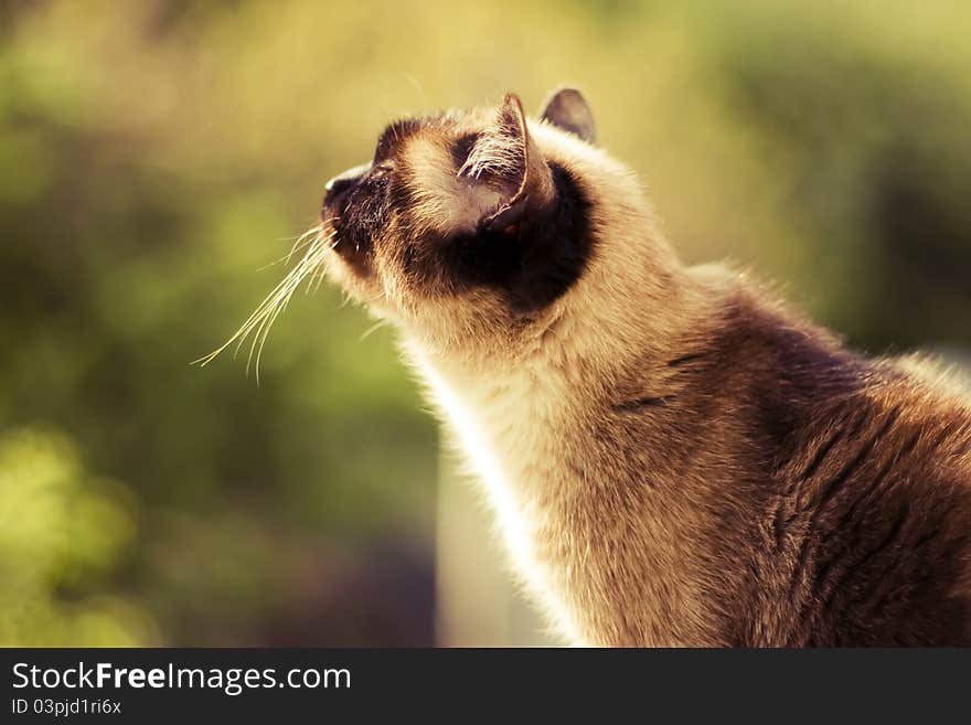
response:
[[[719,641],[971,644],[967,392],[747,288],[650,371],[609,438],[644,451],[631,480],[704,502]]]

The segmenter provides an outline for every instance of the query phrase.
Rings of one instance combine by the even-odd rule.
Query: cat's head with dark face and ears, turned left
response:
[[[391,124],[370,163],[327,184],[331,276],[436,346],[543,324],[602,256],[611,220],[637,216],[630,174],[594,141],[569,88],[537,120],[506,95]]]

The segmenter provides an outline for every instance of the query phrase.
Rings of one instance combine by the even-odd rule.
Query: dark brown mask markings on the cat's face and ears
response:
[[[542,116],[584,140],[594,138],[593,117],[576,90],[554,94]],[[416,218],[412,200],[423,180],[405,172],[397,153],[422,134],[452,149],[456,168],[449,173],[494,192],[494,205],[473,228],[429,232]],[[386,234],[392,215],[394,238]],[[504,96],[492,121],[473,132],[455,115],[392,124],[371,163],[328,182],[321,210],[334,231],[334,250],[354,274],[372,274],[374,245],[385,245],[384,256],[425,294],[489,287],[517,312],[549,305],[583,274],[593,244],[588,215],[581,181],[544,159],[514,95]]]

